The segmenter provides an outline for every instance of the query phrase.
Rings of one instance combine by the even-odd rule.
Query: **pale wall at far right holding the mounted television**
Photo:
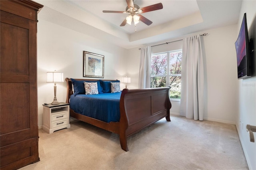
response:
[[[249,38],[254,39],[254,71],[252,77],[242,80],[237,80],[238,84],[238,116],[236,117],[236,128],[244,149],[244,154],[248,166],[251,170],[256,169],[256,142],[250,142],[246,125],[256,126],[256,1],[243,0],[240,11],[240,19],[237,26],[237,36],[242,23],[242,18],[246,13],[247,27]],[[254,133],[256,138],[256,133]]]

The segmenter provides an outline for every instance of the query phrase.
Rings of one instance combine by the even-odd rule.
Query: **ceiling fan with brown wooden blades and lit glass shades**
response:
[[[150,25],[153,22],[145,18],[144,16],[140,15],[140,13],[145,13],[145,12],[150,12],[154,10],[160,10],[163,9],[162,3],[146,6],[143,8],[140,8],[138,5],[134,4],[135,0],[126,0],[127,2],[127,7],[125,11],[102,11],[104,13],[123,13],[123,14],[129,14],[128,17],[122,22],[120,26],[125,26],[126,23],[130,24],[132,23],[132,18],[134,21],[134,24],[138,24],[139,21],[144,22],[146,25]]]

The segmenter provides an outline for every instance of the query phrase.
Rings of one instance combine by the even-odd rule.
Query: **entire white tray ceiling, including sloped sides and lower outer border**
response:
[[[140,22],[135,32],[133,23],[120,27],[127,14],[102,12],[125,11],[126,0],[35,1],[44,5],[38,18],[127,49],[236,24],[242,4],[241,0],[136,0],[140,8],[161,2],[163,9],[142,13],[153,23]]]

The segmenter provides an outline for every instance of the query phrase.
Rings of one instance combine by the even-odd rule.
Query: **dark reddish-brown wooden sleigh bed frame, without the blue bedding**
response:
[[[78,81],[96,81],[95,79],[75,79]],[[102,80],[112,81],[112,80]],[[70,103],[70,96],[73,95],[72,81],[66,78],[67,99]],[[79,113],[70,108],[70,116],[84,121],[96,127],[119,134],[120,144],[123,150],[128,151],[127,137],[138,132],[144,127],[166,118],[170,120],[170,109],[172,107],[169,98],[170,87],[150,89],[123,89],[120,97],[120,121],[100,121]]]

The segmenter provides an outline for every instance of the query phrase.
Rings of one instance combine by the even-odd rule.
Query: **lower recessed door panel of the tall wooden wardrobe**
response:
[[[1,83],[1,91],[1,135],[30,128],[29,83]]]

